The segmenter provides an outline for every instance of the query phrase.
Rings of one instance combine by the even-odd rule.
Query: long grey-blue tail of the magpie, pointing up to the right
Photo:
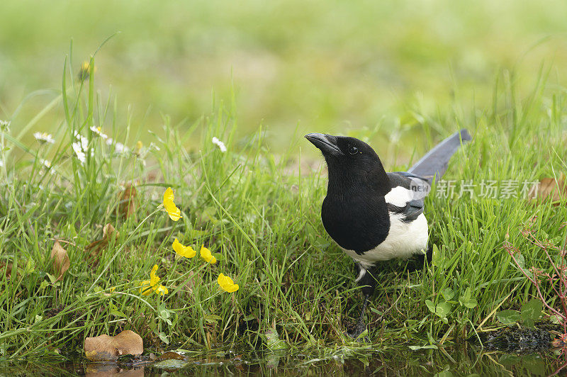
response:
[[[433,183],[434,179],[440,179],[449,164],[451,156],[459,149],[461,143],[471,140],[472,137],[466,129],[460,130],[447,139],[439,142],[432,150],[413,165],[408,173],[420,176]]]

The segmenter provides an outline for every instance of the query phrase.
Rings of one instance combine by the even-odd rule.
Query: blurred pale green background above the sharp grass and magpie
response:
[[[423,123],[442,133],[451,113],[490,108],[507,72],[520,94],[542,64],[563,85],[566,15],[566,1],[3,0],[0,119],[18,128],[55,98],[70,40],[78,72],[120,32],[96,55],[96,87],[118,97],[120,124],[131,106],[130,142],[234,98],[237,137],[262,124],[274,152],[318,131],[372,135],[378,153],[388,140],[393,159]],[[38,89],[54,90],[26,99]]]

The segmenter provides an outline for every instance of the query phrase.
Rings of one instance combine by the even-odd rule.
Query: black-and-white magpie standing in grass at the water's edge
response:
[[[376,286],[371,269],[379,261],[425,257],[429,232],[423,198],[471,135],[467,130],[454,133],[408,171],[391,173],[386,173],[370,145],[354,137],[310,133],[305,138],[327,162],[323,226],[359,268],[356,281],[362,286],[364,303],[354,332],[349,333],[358,337],[366,329],[364,311]]]

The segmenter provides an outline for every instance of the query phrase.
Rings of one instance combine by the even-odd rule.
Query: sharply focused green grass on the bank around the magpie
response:
[[[235,138],[234,105],[221,103],[189,130],[164,116],[163,136],[138,149],[129,136],[133,124],[122,128],[116,122],[122,105],[96,91],[94,77],[72,81],[67,65],[64,72],[63,94],[46,110],[58,118],[54,145],[22,142],[26,125],[18,122],[1,134],[6,164],[0,171],[0,273],[11,268],[0,283],[1,356],[80,350],[84,337],[125,329],[158,349],[264,348],[271,329],[291,349],[353,344],[345,325],[356,320],[361,293],[352,261],[322,227],[325,172],[301,158],[310,148],[303,135],[296,134],[285,153],[274,154],[264,144],[263,128],[247,140]],[[445,179],[537,181],[558,175],[567,169],[567,97],[544,82],[518,98],[514,81],[503,79],[488,108],[466,116],[442,108],[435,118],[420,116],[427,142],[416,147],[431,147],[466,127],[473,142],[454,156]],[[111,125],[103,131],[130,142],[130,152],[113,152],[89,130],[92,125]],[[75,131],[89,140],[85,164],[74,157]],[[228,152],[213,145],[213,136]],[[187,149],[196,137],[198,147]],[[51,169],[42,167],[46,157]],[[130,182],[138,195],[135,213],[124,218],[119,195]],[[181,208],[179,222],[157,209],[169,186]],[[438,249],[433,264],[411,274],[404,272],[405,262],[384,265],[368,310],[374,347],[450,344],[472,336],[481,324],[483,330],[498,327],[495,309],[519,308],[533,293],[510,264],[503,241],[522,250],[526,266],[550,271],[544,255],[520,235],[534,215],[538,237],[559,237],[556,242],[565,247],[566,206],[434,195],[426,205],[430,240]],[[101,239],[108,223],[118,230],[117,239],[89,260],[85,247]],[[174,237],[197,249],[205,244],[220,261],[174,259]],[[62,281],[55,281],[50,260],[55,240],[70,259]],[[138,283],[149,278],[154,264],[169,293],[140,296]],[[220,273],[234,278],[240,290],[220,291]],[[447,288],[454,291],[452,300]],[[473,308],[459,303],[467,290],[477,301]],[[426,300],[449,305],[449,312],[432,314]]]

